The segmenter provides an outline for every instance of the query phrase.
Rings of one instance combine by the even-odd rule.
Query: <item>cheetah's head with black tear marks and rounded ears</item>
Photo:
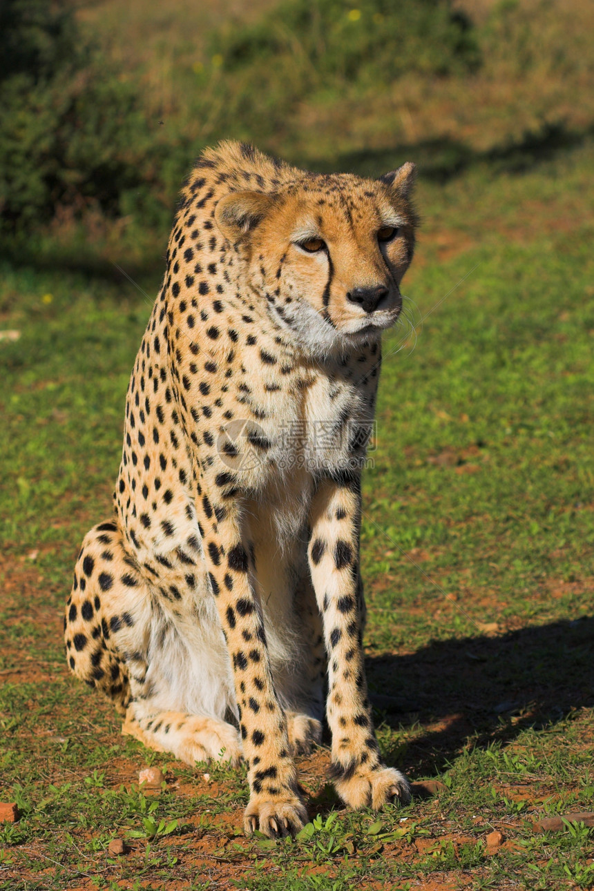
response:
[[[412,259],[415,166],[380,179],[299,172],[271,192],[219,200],[219,229],[268,312],[318,355],[378,339],[400,314]]]

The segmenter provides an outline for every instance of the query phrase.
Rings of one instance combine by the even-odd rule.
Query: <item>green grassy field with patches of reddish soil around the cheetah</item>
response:
[[[474,4],[479,20],[491,5]],[[103,9],[109,22],[111,7],[85,15]],[[577,0],[571,10],[587,14]],[[559,108],[572,106],[579,67],[565,70],[565,86],[542,76]],[[493,74],[491,87],[473,81],[458,111],[472,151],[456,156],[457,173],[441,153],[436,176],[426,146],[439,138],[442,152],[444,93],[461,95],[459,85],[432,94],[443,112],[433,135],[427,118],[408,139],[411,159],[416,145],[428,159],[424,222],[404,282],[408,321],[386,339],[365,478],[378,737],[388,764],[439,781],[406,808],[342,809],[321,747],[300,761],[312,820],[301,838],[244,838],[243,772],[148,752],[70,676],[62,604],[82,536],[110,515],[128,375],[164,243],[151,264],[123,263],[136,284],[104,257],[92,274],[76,257],[70,269],[3,261],[0,330],[19,339],[0,339],[1,798],[22,815],[0,824],[0,888],[594,887],[592,830],[533,828],[594,810],[594,93],[557,133],[516,139],[529,84],[512,94],[513,71],[499,73],[503,104]],[[376,102],[356,135],[332,145],[301,108],[318,155],[296,141],[283,153],[382,172],[393,161],[379,126],[389,100]],[[496,139],[499,117],[509,132]],[[146,764],[165,773],[161,791],[138,789]],[[499,846],[487,844],[494,830]],[[128,854],[111,858],[111,838]]]

